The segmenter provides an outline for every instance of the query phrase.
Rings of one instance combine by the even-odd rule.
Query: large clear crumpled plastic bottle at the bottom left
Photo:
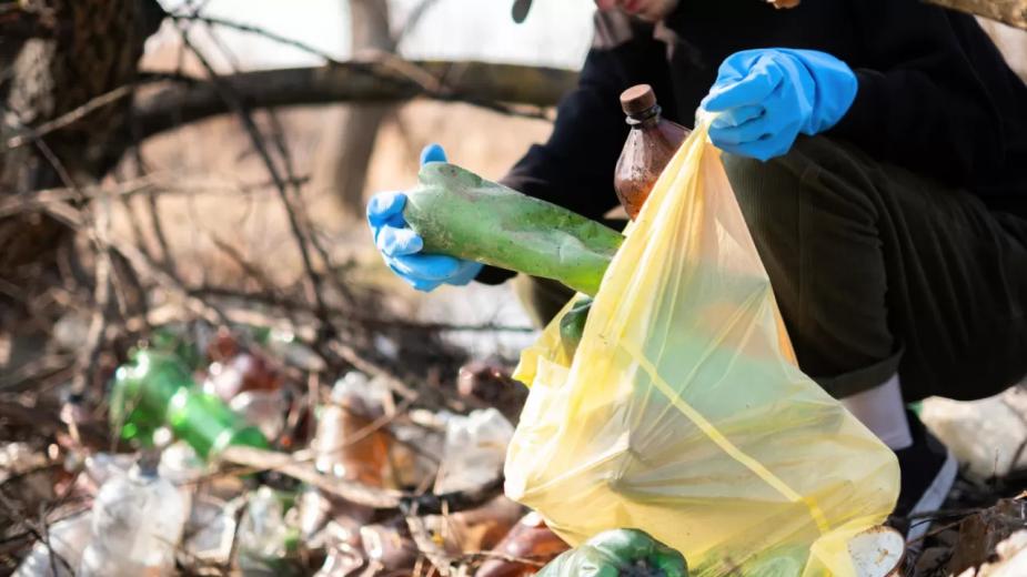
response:
[[[93,503],[92,537],[80,577],[170,575],[185,525],[185,505],[174,485],[144,458],[114,476]]]

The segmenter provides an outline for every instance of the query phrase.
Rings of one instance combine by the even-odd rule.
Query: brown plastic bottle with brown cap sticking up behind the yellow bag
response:
[[[632,130],[617,161],[613,184],[627,215],[635,220],[663,169],[692,131],[661,117],[656,94],[648,84],[625,90],[621,108]]]

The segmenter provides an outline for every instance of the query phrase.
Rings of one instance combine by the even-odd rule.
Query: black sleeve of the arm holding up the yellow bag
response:
[[[983,78],[1011,72],[977,22],[918,0],[855,0],[852,7],[865,48],[863,61],[849,62],[859,90],[829,134],[953,184],[973,186],[998,171],[1010,90]]]

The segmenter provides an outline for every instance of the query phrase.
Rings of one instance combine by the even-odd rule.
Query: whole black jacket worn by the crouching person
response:
[[[613,171],[627,135],[617,97],[652,84],[664,114],[692,125],[717,67],[753,48],[820,50],[859,79],[834,129],[867,153],[979,195],[995,210],[1027,206],[1027,85],[973,17],[920,0],[682,0],[660,24],[596,14],[577,89],[548,142],[503,182],[600,219],[617,203]],[[486,271],[480,280],[505,277]]]

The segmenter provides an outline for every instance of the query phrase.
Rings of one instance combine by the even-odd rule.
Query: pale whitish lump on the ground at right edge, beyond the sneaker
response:
[[[1027,468],[1027,393],[1019,387],[974,402],[927,398],[920,419],[979,480]]]

